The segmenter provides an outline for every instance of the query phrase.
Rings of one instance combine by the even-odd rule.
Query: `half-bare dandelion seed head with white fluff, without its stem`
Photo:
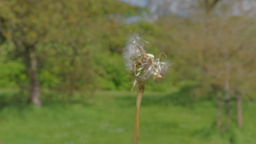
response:
[[[160,53],[161,55],[165,53]],[[155,59],[154,55],[146,53],[144,50],[144,40],[138,34],[131,34],[127,44],[124,47],[124,60],[126,69],[132,71],[135,77],[132,89],[139,82],[153,77],[154,80],[163,79],[168,73],[171,63],[169,61],[160,61]]]

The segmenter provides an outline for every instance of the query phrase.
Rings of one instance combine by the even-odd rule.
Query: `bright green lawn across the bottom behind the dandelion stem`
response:
[[[42,109],[8,105],[0,110],[0,143],[132,143],[135,92],[98,92],[88,103],[49,103]],[[254,143],[255,103],[243,105],[244,127],[214,127],[213,101],[173,103],[146,92],[140,111],[140,144]]]

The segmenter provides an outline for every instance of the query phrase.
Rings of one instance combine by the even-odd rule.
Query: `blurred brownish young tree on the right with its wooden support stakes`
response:
[[[178,54],[185,56],[186,65],[190,63],[201,69],[201,75],[197,77],[201,79],[203,89],[209,87],[208,91],[213,91],[217,88],[216,90],[225,92],[226,117],[229,123],[231,95],[237,92],[246,93],[242,90],[242,85],[246,85],[246,79],[255,76],[252,71],[255,68],[252,63],[255,61],[255,48],[252,44],[255,22],[242,17],[211,17],[205,22],[207,27],[200,22],[192,22],[189,27],[183,27],[183,36],[176,36],[177,43],[181,46],[181,53]],[[186,55],[184,51],[189,54]],[[252,86],[246,86],[253,89]],[[241,121],[241,100],[240,97],[237,98],[237,119]],[[218,96],[218,99],[221,98]],[[221,113],[219,103],[220,101],[218,123]],[[241,122],[238,123],[241,125]]]

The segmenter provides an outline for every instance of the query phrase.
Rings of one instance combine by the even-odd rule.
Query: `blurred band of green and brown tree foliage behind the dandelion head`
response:
[[[187,97],[211,98],[209,93],[225,91],[229,63],[230,95],[255,98],[255,20],[220,17],[216,8],[222,1],[194,3],[203,14],[165,13],[156,21],[131,22],[148,10],[114,0],[1,0],[0,86],[31,87],[36,62],[34,76],[43,92],[129,90],[132,79],[126,77],[121,52],[132,31],[144,35],[152,54],[166,52],[175,63],[160,81],[163,86],[149,81],[148,89],[189,89]]]

